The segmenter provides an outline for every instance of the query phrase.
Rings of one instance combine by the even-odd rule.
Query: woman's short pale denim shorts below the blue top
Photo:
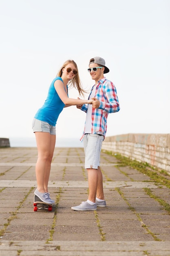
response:
[[[56,135],[55,126],[35,118],[33,119],[32,128],[33,132],[49,132],[51,135]]]

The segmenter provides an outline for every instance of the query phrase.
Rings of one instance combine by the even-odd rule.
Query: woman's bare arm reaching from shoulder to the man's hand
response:
[[[62,102],[65,105],[69,105],[69,106],[83,105],[85,103],[91,104],[93,102],[92,99],[85,100],[85,99],[71,99],[71,98],[68,98],[68,95],[66,94],[66,91],[64,90],[64,85],[63,85],[61,80],[56,80],[55,83],[54,83],[54,87],[55,87],[55,90],[56,90],[58,96],[60,97],[60,99],[62,100]]]

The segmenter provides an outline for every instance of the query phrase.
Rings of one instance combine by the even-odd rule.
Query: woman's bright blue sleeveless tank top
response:
[[[54,82],[56,80],[62,81],[62,78],[57,76],[55,79],[53,79],[44,105],[37,111],[34,116],[35,119],[47,122],[52,126],[56,125],[57,119],[65,106],[55,90]]]

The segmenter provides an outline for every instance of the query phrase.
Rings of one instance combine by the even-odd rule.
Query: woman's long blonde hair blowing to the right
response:
[[[57,76],[60,76],[60,77],[62,76],[62,69],[64,67],[66,67],[66,65],[68,65],[69,63],[72,63],[75,66],[75,68],[77,70],[77,74],[73,77],[73,79],[70,79],[70,81],[68,82],[68,85],[71,85],[72,87],[77,89],[79,94],[84,96],[84,93],[86,93],[86,91],[82,88],[82,83],[79,79],[78,67],[77,67],[77,64],[75,63],[75,61],[73,61],[73,60],[65,61],[64,64],[62,65],[62,67],[60,68]]]

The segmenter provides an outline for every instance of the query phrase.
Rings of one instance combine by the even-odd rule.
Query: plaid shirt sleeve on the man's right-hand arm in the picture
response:
[[[112,82],[109,81],[106,86],[103,86],[103,96],[102,101],[100,101],[99,109],[107,113],[115,113],[120,110],[117,91]]]

